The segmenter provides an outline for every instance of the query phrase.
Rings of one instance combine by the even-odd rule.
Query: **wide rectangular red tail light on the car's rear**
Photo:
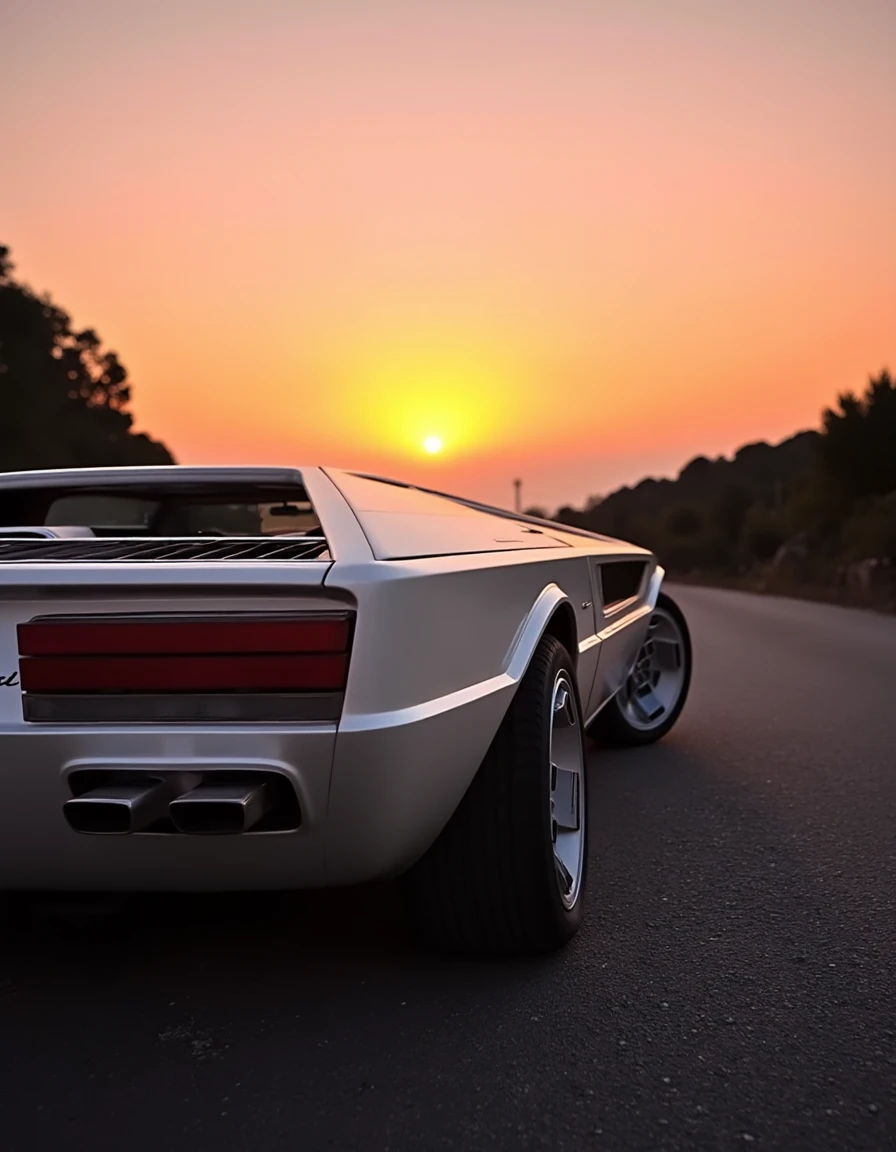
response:
[[[185,696],[202,698],[203,715],[227,718],[234,718],[236,697],[245,698],[245,714],[264,719],[273,715],[259,699],[268,694],[281,698],[275,718],[288,718],[284,695],[344,690],[351,628],[349,614],[31,620],[18,626],[25,714],[30,706],[35,718],[75,718],[77,700],[78,719],[136,718],[134,702],[143,697],[145,706],[137,712],[150,719],[150,697],[170,702]],[[51,697],[53,717],[47,715]],[[85,698],[92,702],[86,711]],[[222,698],[230,703],[215,708],[213,699]],[[177,707],[180,718],[189,718],[189,705],[182,700]],[[307,710],[305,702],[305,714]],[[161,711],[172,715],[170,703]],[[332,704],[325,711],[329,717]]]

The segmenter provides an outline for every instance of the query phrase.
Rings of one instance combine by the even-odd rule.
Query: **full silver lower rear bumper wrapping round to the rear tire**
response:
[[[438,836],[509,703],[504,682],[450,706],[335,725],[0,730],[0,889],[316,888],[393,876]],[[83,835],[62,805],[85,767],[265,771],[291,782],[296,831]]]

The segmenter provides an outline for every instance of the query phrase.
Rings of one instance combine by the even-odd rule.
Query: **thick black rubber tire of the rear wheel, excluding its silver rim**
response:
[[[572,685],[582,741],[578,895],[561,896],[552,838],[552,702],[556,677]],[[582,706],[569,653],[542,637],[512,703],[454,816],[405,876],[407,907],[423,940],[466,954],[527,955],[562,947],[582,923],[587,885],[587,788]]]

